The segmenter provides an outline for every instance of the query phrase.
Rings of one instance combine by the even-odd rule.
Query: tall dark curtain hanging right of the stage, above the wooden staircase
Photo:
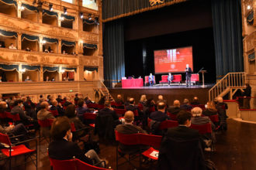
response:
[[[240,0],[212,0],[216,78],[244,70]]]

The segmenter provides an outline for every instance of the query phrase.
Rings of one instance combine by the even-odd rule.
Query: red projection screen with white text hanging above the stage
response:
[[[154,51],[154,73],[185,72],[185,65],[193,71],[192,46]]]

